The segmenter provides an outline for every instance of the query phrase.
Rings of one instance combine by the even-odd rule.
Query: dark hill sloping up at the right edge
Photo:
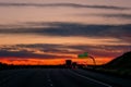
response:
[[[114,59],[105,64],[105,67],[131,69],[131,51]]]

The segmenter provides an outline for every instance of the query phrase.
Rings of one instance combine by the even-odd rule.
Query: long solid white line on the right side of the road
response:
[[[112,87],[111,85],[106,84],[106,83],[103,83],[103,82],[100,82],[100,80],[96,80],[96,79],[94,79],[94,78],[91,78],[91,77],[87,77],[87,76],[83,76],[83,75],[78,74],[78,73],[72,72],[72,71],[70,71],[70,72],[73,73],[73,74],[75,74],[76,76],[80,76],[80,77],[83,77],[83,78],[85,78],[85,79],[88,79],[88,80],[95,82],[95,83],[97,83],[97,84],[100,84],[100,85],[104,85],[104,86],[107,86],[107,87]]]

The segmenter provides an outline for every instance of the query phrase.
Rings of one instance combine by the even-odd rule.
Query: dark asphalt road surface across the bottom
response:
[[[131,79],[80,69],[21,69],[0,71],[0,87],[131,87]]]

